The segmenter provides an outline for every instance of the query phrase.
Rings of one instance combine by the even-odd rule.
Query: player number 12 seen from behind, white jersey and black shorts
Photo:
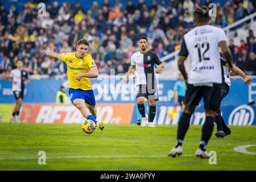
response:
[[[230,71],[233,71],[232,54],[226,43],[224,30],[209,25],[209,10],[206,6],[195,10],[196,27],[184,35],[179,52],[178,67],[187,85],[185,109],[177,129],[176,146],[168,156],[175,157],[183,152],[182,144],[187,133],[191,115],[201,98],[204,98],[205,122],[196,156],[210,158],[207,144],[214,128],[214,118],[220,104],[222,72],[220,52],[224,53]],[[185,71],[184,61],[191,57],[191,70]]]

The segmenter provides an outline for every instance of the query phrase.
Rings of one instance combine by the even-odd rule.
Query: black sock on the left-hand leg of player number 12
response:
[[[188,131],[189,123],[190,123],[191,114],[183,113],[180,117],[180,123],[177,129],[177,143],[176,146],[182,146],[183,139],[185,134]]]

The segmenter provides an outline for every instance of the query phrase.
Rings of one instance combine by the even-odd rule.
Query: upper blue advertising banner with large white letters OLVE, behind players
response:
[[[135,84],[134,80],[130,84],[123,84],[122,80],[92,79],[93,90],[97,103],[134,103]],[[175,80],[159,80],[159,101],[158,104],[174,105],[174,84]],[[67,80],[42,79],[32,80],[26,85],[24,102],[27,103],[55,103],[56,93],[60,86],[68,87]],[[250,86],[243,84],[239,79],[232,79],[232,86],[228,96],[224,98],[222,106],[239,106],[247,104],[249,98],[255,98],[256,85],[253,82]],[[68,94],[68,89],[66,90]],[[0,103],[13,104],[15,98],[11,90],[11,82],[0,80]]]

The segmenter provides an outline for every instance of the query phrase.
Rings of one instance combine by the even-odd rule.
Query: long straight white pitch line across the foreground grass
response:
[[[242,154],[217,154],[218,155],[242,155]],[[181,157],[195,156],[192,154]],[[0,160],[34,160],[38,157],[0,158]],[[168,158],[167,155],[82,155],[82,156],[46,156],[46,159],[86,159],[86,158]]]

